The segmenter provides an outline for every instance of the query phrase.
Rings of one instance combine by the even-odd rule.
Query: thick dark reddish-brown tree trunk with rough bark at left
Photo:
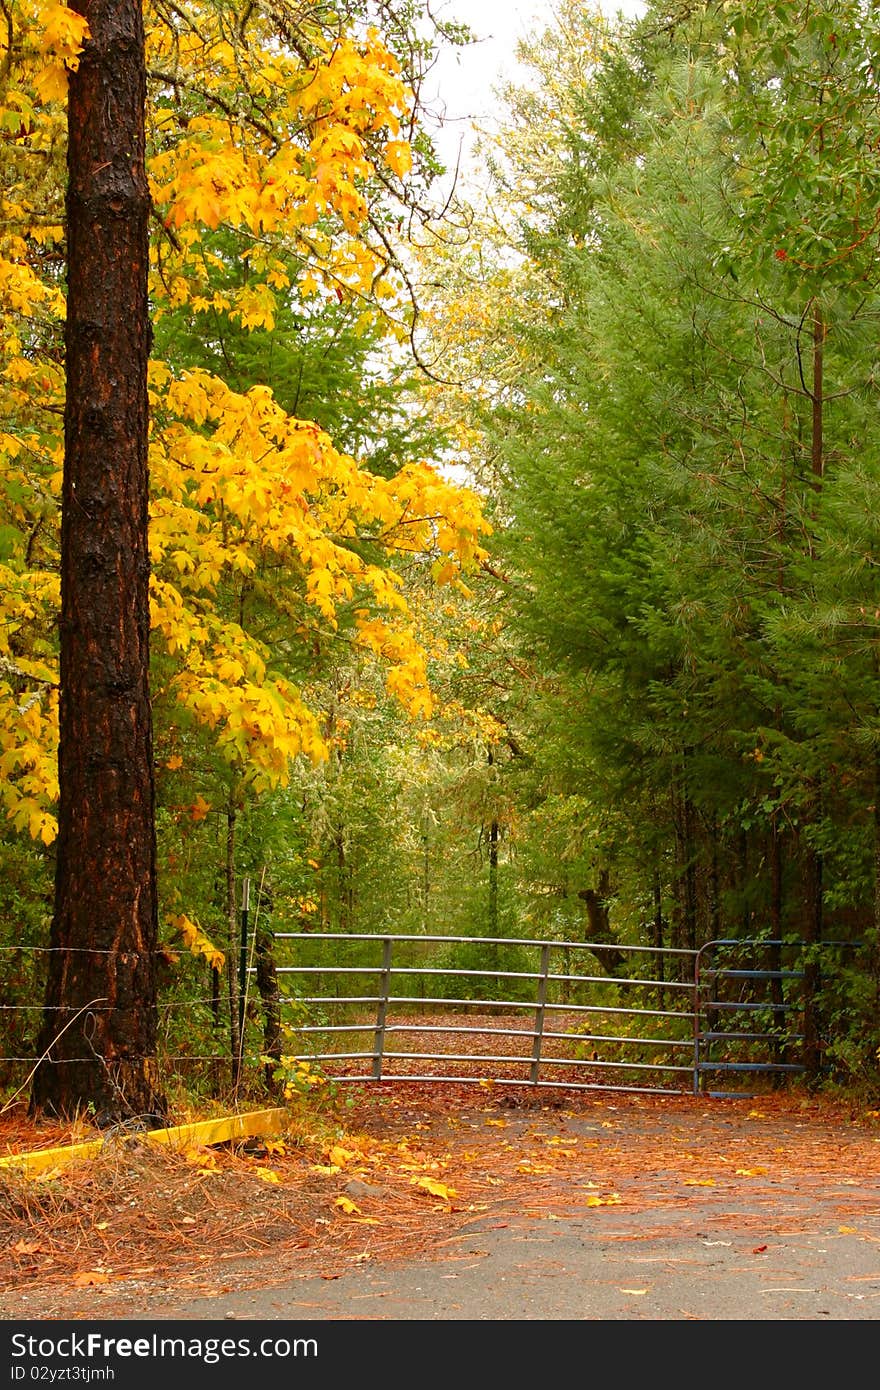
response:
[[[136,0],[74,0],[68,103],[60,813],[32,1108],[164,1111],[156,1074],[149,699],[145,40]]]

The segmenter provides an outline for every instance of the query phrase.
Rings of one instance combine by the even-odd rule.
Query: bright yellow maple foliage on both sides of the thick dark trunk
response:
[[[88,25],[58,0],[11,0],[4,14],[0,808],[49,844],[64,456],[57,152],[67,74]],[[164,15],[147,0],[149,67],[165,75],[149,101],[149,177],[165,224],[152,254],[157,316],[188,303],[268,329],[279,293],[339,293],[359,299],[366,316],[398,314],[395,331],[405,331],[400,279],[371,229],[368,186],[374,170],[405,178],[412,167],[402,132],[413,95],[381,35],[338,32],[335,21],[324,32],[327,15],[311,6],[300,8],[296,44],[260,3],[242,19],[246,32],[241,15],[231,25],[229,11],[206,0],[181,0],[174,24]],[[210,282],[209,271],[224,268],[210,240],[220,227],[245,247],[249,274],[236,291]],[[253,588],[285,644],[304,652],[345,635],[382,667],[406,713],[425,720],[435,709],[428,652],[395,564],[424,557],[438,584],[459,582],[484,555],[480,499],[425,461],[391,480],[371,474],[316,424],[285,414],[266,386],[236,392],[210,373],[153,361],[149,391],[157,703],[192,716],[257,792],[284,785],[295,759],[327,758],[310,698],[241,603],[231,606],[231,595]],[[371,557],[355,542],[371,542]],[[165,766],[186,773],[185,744]],[[189,815],[200,820],[209,809],[196,795]],[[179,930],[190,949],[215,958],[195,923]]]

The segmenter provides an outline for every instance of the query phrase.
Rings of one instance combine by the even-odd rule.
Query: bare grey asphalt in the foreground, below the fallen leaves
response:
[[[599,1220],[596,1220],[599,1215]],[[723,1218],[719,1220],[719,1215]],[[809,1218],[808,1218],[809,1219]],[[455,1255],[364,1265],[213,1298],[152,1300],[135,1319],[863,1320],[880,1318],[880,1212],[766,1233],[748,1207],[475,1222]],[[225,1275],[227,1283],[235,1276]]]

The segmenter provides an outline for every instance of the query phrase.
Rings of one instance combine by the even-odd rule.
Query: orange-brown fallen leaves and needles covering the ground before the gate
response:
[[[524,1212],[612,1222],[710,1204],[716,1236],[735,1225],[763,1240],[802,1229],[822,1194],[838,1229],[859,1234],[880,1207],[880,1115],[802,1093],[760,1105],[355,1083],[318,1115],[292,1109],[289,1130],[257,1144],[106,1144],[39,1179],[0,1177],[0,1314],[70,1308],[75,1291],[93,1315],[124,1316],[145,1287],[221,1291],[236,1261],[242,1287],[245,1265],[250,1284],[271,1284],[368,1259],[460,1258],[468,1232]],[[82,1138],[82,1126],[0,1116],[0,1152]],[[727,1209],[741,1197],[745,1216]]]

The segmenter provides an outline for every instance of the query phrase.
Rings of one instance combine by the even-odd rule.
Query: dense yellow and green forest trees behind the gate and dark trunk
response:
[[[844,941],[823,1074],[876,1081],[876,3],[559,0],[442,203],[418,89],[467,35],[425,6],[145,13],[174,1048],[217,1048],[218,952],[235,1030],[249,877],[259,930]],[[58,14],[11,4],[0,117],[8,1056],[56,853]]]

